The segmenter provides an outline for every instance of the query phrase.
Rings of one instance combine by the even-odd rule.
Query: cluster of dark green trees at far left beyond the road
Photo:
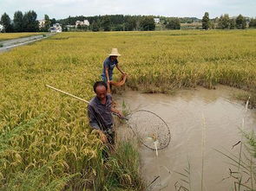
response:
[[[49,31],[50,24],[56,23],[55,19],[50,20],[49,16],[44,16],[44,26],[39,29],[39,22],[36,20],[37,14],[34,10],[30,10],[23,14],[22,11],[17,10],[14,13],[13,21],[10,20],[10,16],[7,13],[3,13],[1,16],[0,24],[3,25],[5,32],[38,32]]]

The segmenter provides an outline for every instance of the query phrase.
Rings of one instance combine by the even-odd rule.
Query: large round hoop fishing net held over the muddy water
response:
[[[151,150],[162,150],[171,140],[167,123],[152,111],[138,110],[126,118],[141,143]]]

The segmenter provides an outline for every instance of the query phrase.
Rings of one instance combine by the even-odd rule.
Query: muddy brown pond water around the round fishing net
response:
[[[202,166],[203,190],[233,190],[233,179],[221,181],[228,176],[230,161],[214,149],[238,153],[239,146],[232,149],[232,145],[240,141],[239,128],[245,115],[246,131],[256,130],[256,111],[246,113],[245,106],[232,99],[235,92],[239,90],[218,86],[215,90],[199,87],[174,95],[125,92],[116,96],[117,103],[125,101],[132,111],[154,111],[171,129],[171,142],[159,151],[158,158],[153,150],[140,147],[142,176],[147,184],[160,175],[148,190],[175,190],[174,185],[189,188],[181,180],[187,178],[174,172],[187,175],[184,169],[188,163],[191,190],[200,190]],[[128,129],[122,127],[119,134],[128,136]]]

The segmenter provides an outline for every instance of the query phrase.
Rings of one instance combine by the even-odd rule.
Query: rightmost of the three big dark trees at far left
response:
[[[37,32],[39,31],[39,22],[36,20],[36,12],[30,10],[23,16],[24,31],[25,32]]]

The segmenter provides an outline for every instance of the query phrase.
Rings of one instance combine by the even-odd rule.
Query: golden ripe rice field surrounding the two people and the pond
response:
[[[256,89],[256,30],[62,33],[12,49],[0,54],[1,190],[143,190],[134,146],[103,162],[87,105],[45,86],[91,99],[111,48],[133,90]]]

